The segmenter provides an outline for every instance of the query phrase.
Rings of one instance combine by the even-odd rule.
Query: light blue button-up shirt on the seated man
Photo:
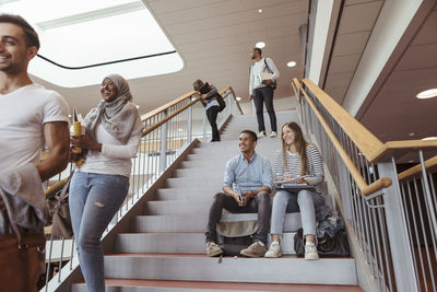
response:
[[[236,184],[239,185],[241,194],[262,186],[268,186],[272,190],[273,175],[270,162],[256,152],[250,162],[243,154],[229,160],[226,164],[223,187],[229,186],[238,191]]]

